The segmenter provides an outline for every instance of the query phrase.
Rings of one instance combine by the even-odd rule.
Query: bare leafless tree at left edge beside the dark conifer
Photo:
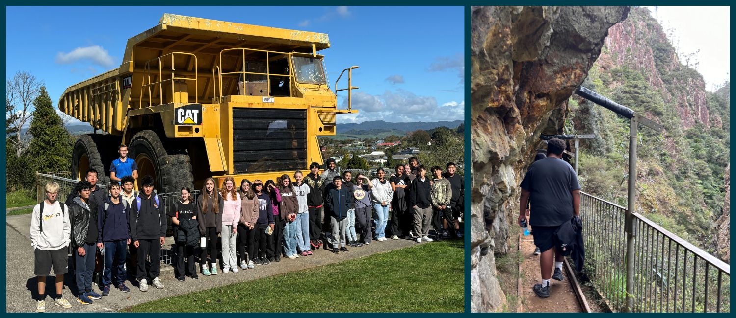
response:
[[[8,79],[5,89],[5,134],[15,149],[15,157],[26,152],[30,144],[28,131],[21,133],[23,126],[31,119],[31,106],[38,97],[43,82],[27,72],[15,73]]]

